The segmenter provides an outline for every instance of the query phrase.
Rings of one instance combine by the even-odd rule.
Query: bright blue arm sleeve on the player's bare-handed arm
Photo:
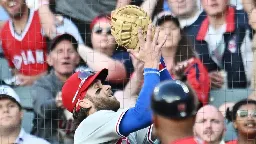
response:
[[[145,81],[135,107],[129,109],[120,122],[119,132],[123,136],[128,136],[130,133],[145,128],[152,123],[150,100],[155,86],[160,83],[160,77],[156,69],[144,69],[144,72],[147,71],[154,71],[156,73],[144,75]]]

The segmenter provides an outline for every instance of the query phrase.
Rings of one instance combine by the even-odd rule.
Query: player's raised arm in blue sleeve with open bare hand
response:
[[[120,122],[119,133],[123,136],[145,128],[152,123],[150,99],[155,86],[160,82],[159,60],[162,46],[166,41],[165,37],[161,43],[157,44],[159,28],[156,29],[152,40],[152,29],[152,25],[149,25],[146,41],[144,41],[141,30],[139,30],[139,52],[129,50],[136,58],[144,62],[144,84],[135,107],[130,108]]]

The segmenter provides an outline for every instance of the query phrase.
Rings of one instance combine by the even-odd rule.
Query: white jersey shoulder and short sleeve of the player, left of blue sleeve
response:
[[[101,110],[90,115],[76,129],[74,143],[116,143],[123,137],[119,134],[118,126],[126,111]]]

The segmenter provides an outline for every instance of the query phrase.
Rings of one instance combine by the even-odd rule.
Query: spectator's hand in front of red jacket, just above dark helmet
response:
[[[194,62],[194,58],[188,59],[183,62],[179,62],[173,69],[172,73],[175,74],[177,79],[181,79],[184,76],[184,71],[187,67]]]

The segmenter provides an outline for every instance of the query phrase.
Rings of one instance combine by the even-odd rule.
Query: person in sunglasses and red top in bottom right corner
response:
[[[232,111],[227,112],[227,119],[233,122],[237,130],[237,140],[227,144],[254,144],[256,138],[256,101],[243,99],[237,102]]]

